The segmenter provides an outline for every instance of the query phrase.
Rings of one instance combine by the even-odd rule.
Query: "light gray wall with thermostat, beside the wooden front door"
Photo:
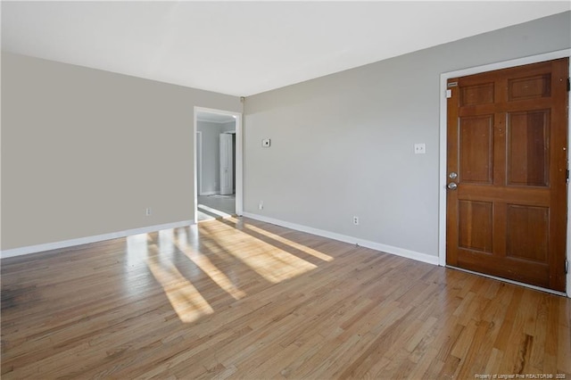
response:
[[[569,48],[569,20],[561,13],[248,97],[244,211],[437,256],[440,74]]]

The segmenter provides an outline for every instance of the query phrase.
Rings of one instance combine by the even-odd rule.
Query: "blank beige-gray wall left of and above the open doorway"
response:
[[[194,219],[195,105],[242,112],[235,96],[3,52],[2,249]]]

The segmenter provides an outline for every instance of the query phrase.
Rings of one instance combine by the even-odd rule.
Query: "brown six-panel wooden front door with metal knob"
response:
[[[568,67],[448,81],[448,265],[565,291]]]

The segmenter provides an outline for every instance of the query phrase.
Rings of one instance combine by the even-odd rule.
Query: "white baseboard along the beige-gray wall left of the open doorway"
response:
[[[149,232],[160,231],[161,229],[186,227],[186,226],[190,226],[193,224],[194,224],[194,221],[185,220],[185,221],[161,224],[161,225],[156,225],[156,226],[127,229],[125,231],[112,232],[110,234],[79,237],[78,239],[64,240],[62,242],[29,245],[26,247],[13,248],[10,250],[1,251],[0,257],[2,259],[5,259],[8,257],[21,256],[21,255],[29,254],[29,253],[44,252],[44,251],[57,250],[60,248],[72,247],[74,245],[103,242],[104,240],[117,239],[119,237],[126,237],[129,235],[146,234]]]

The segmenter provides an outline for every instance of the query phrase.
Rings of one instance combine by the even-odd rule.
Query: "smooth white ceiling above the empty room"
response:
[[[2,49],[247,96],[570,2],[2,2]]]

